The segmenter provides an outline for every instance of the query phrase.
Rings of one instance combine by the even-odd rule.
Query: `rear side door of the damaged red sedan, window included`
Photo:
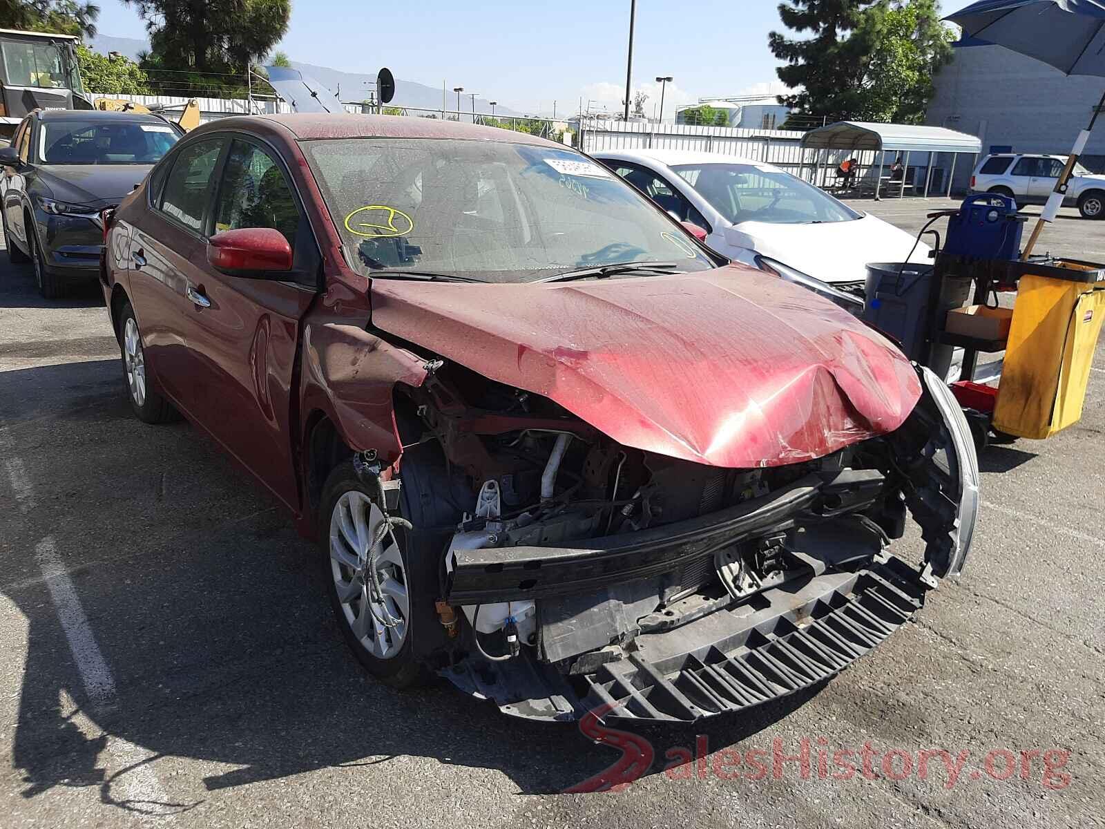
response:
[[[186,323],[194,313],[189,285],[202,281],[207,264],[204,222],[215,170],[228,141],[220,136],[189,141],[173,151],[164,177],[151,177],[151,209],[130,237],[129,283],[146,369],[161,390],[193,420],[206,420],[189,393]]]

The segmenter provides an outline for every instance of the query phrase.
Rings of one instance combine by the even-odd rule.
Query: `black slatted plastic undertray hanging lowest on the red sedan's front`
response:
[[[507,714],[572,721],[694,722],[761,705],[843,671],[924,604],[919,574],[893,556],[856,573],[760,594],[674,630],[644,633],[628,658],[578,678],[533,660],[442,671]]]

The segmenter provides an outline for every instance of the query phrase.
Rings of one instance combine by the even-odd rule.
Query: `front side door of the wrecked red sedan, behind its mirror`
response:
[[[230,276],[208,264],[206,251],[198,254],[181,325],[189,407],[228,451],[297,510],[292,378],[299,319],[318,290],[318,245],[272,147],[234,134],[217,179],[202,235],[274,228],[292,246],[294,267],[278,274],[280,281]]]

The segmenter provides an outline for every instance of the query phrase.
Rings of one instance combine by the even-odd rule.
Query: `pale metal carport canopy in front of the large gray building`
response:
[[[933,172],[933,154],[950,153],[951,174],[948,175],[948,196],[951,196],[951,177],[955,174],[956,158],[966,153],[977,156],[982,150],[982,141],[976,136],[957,133],[944,127],[925,127],[913,124],[875,124],[864,120],[839,120],[823,127],[811,129],[802,138],[802,147],[814,150],[874,151],[878,157],[878,178],[875,180],[875,198],[883,180],[883,154],[904,154],[902,182],[898,196],[905,195],[906,177],[912,153],[927,153],[928,164],[925,174],[925,196]],[[819,155],[820,162],[820,155]]]

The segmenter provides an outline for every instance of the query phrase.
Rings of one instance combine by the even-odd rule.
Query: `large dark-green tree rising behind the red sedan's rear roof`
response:
[[[245,70],[287,31],[291,0],[124,0],[146,21],[140,65],[187,94],[242,93]],[[172,77],[172,81],[162,80]]]

